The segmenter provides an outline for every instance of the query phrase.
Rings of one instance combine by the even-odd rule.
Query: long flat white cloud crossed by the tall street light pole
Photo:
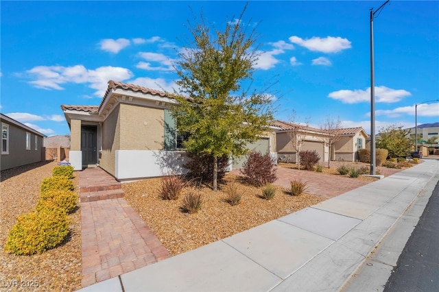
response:
[[[383,103],[394,103],[404,97],[412,95],[407,90],[392,89],[385,86],[375,86],[375,101]],[[370,101],[370,88],[366,90],[338,90],[329,93],[328,97],[342,101],[344,104],[357,104]]]

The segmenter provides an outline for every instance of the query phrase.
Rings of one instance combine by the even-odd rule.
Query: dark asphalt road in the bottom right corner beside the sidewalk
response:
[[[439,182],[384,292],[439,291]]]

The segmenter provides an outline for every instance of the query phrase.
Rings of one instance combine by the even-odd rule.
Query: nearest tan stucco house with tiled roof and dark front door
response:
[[[163,91],[110,80],[99,106],[62,105],[69,162],[75,170],[99,165],[119,181],[185,173],[185,137],[176,134],[169,110],[176,104]],[[267,139],[275,152],[274,133],[261,137]]]

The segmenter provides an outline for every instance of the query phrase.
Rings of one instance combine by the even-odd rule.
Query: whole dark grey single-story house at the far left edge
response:
[[[0,114],[0,121],[1,170],[45,160],[43,147],[45,134],[11,119],[5,114]]]

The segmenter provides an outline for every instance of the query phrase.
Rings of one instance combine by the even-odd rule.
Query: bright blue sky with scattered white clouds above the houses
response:
[[[260,58],[253,88],[276,119],[340,117],[370,133],[369,11],[384,1],[250,1]],[[69,134],[61,104],[99,105],[108,80],[171,90],[172,62],[200,16],[222,29],[242,1],[1,1],[1,112],[47,136]],[[192,11],[192,12],[191,12]],[[439,1],[390,1],[374,21],[377,131],[414,127],[439,99]],[[439,102],[417,107],[439,121]]]

